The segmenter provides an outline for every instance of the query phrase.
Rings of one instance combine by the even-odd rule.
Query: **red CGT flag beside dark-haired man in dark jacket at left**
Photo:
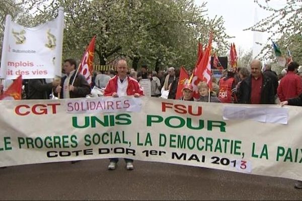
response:
[[[87,82],[91,85],[92,83],[92,73],[93,73],[93,58],[94,58],[94,49],[96,43],[96,36],[92,38],[89,46],[83,54],[81,62],[79,64],[78,71],[80,74],[84,75]],[[73,83],[72,83],[73,85]]]

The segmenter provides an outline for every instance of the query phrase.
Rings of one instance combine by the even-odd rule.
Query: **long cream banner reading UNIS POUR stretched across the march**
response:
[[[302,107],[126,96],[2,101],[0,111],[0,166],[126,157],[302,180]]]

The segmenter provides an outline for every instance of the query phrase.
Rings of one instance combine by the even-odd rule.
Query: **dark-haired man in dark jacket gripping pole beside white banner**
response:
[[[61,98],[86,97],[90,93],[91,88],[84,75],[75,74],[76,66],[77,63],[74,59],[64,61],[66,75],[61,78],[61,84],[55,89],[56,93],[60,93]],[[72,84],[73,79],[74,83]]]

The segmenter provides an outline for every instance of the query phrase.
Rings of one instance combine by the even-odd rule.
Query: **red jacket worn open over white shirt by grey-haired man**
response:
[[[105,92],[104,92],[105,96],[111,96],[112,93],[117,92],[117,79],[118,76],[116,75],[109,80],[105,88]],[[140,87],[139,83],[135,79],[127,76],[127,80],[128,80],[127,95],[134,95],[134,93],[139,93],[140,95],[143,95],[142,88]]]

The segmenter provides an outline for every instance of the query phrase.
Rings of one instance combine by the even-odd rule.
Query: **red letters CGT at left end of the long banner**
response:
[[[35,115],[56,114],[57,106],[59,105],[61,104],[36,104],[33,106],[19,105],[15,108],[15,113],[20,116],[26,116],[31,113]]]

